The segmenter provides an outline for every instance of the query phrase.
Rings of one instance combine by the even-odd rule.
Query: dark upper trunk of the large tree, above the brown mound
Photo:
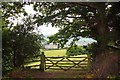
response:
[[[99,11],[99,16],[98,16],[98,25],[97,25],[97,42],[98,42],[98,48],[99,52],[104,52],[107,48],[107,44],[109,42],[108,39],[108,32],[109,29],[106,25],[106,16],[105,16],[105,6],[102,6],[102,8],[98,9]]]

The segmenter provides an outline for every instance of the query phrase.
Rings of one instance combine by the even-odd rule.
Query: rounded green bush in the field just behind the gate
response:
[[[66,55],[68,56],[77,56],[77,55],[81,55],[81,54],[86,54],[87,51],[83,46],[71,46],[67,49]]]

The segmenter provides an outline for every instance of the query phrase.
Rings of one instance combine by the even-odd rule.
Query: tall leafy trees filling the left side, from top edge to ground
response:
[[[2,66],[3,75],[14,67],[22,67],[24,61],[40,54],[43,35],[33,32],[34,20],[23,9],[25,3],[2,2]],[[23,19],[13,23],[23,14]],[[11,18],[12,21],[9,19]]]

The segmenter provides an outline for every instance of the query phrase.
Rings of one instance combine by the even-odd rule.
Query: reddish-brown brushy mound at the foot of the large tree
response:
[[[105,51],[96,56],[96,61],[93,63],[92,74],[96,78],[107,78],[108,76],[118,76],[118,54],[112,51]]]

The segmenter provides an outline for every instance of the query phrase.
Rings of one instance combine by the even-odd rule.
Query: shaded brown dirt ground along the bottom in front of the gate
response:
[[[80,78],[85,72],[68,70],[68,71],[53,71],[46,70],[42,72],[40,70],[24,70],[24,71],[14,71],[9,73],[10,78]]]

